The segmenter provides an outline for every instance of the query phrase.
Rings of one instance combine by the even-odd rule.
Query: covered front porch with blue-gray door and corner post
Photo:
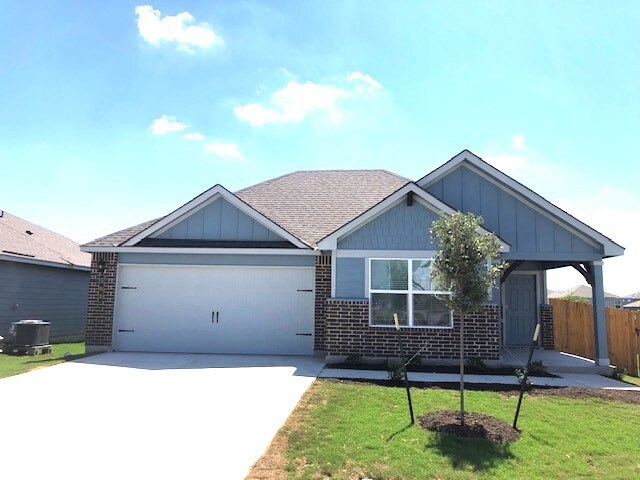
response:
[[[522,366],[536,325],[540,335],[536,342],[534,360],[540,360],[549,370],[607,371],[607,328],[602,258],[584,261],[507,260],[507,268],[500,280],[501,304],[501,363]],[[548,270],[572,267],[591,286],[594,332],[594,359],[557,352],[554,346],[553,309],[547,300],[546,273]]]

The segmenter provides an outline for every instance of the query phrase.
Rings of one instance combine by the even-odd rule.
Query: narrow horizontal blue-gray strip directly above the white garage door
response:
[[[312,267],[314,255],[239,255],[201,253],[121,253],[118,263],[149,265],[242,265],[273,267]]]

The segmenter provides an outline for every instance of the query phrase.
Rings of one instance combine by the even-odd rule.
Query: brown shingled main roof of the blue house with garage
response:
[[[410,180],[386,170],[296,171],[235,192],[235,195],[310,246],[385,199]],[[162,218],[86,244],[122,245]]]

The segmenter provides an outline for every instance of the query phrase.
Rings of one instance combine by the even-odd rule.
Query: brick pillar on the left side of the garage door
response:
[[[101,260],[105,262],[105,271],[102,274],[98,272],[98,262]],[[106,351],[111,347],[117,265],[117,253],[91,254],[89,305],[85,334],[88,352]]]

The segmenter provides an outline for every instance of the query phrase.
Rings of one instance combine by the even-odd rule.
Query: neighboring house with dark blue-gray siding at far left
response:
[[[80,245],[0,210],[0,336],[11,322],[51,322],[52,341],[84,338],[91,256]]]

